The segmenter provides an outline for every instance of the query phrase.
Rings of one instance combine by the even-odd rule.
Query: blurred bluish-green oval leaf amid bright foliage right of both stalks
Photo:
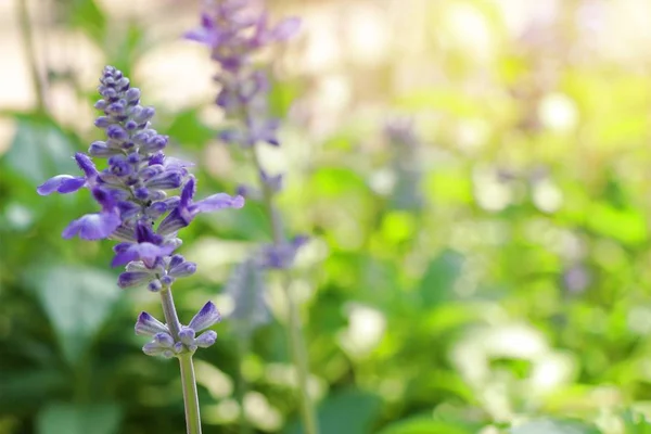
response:
[[[463,260],[461,254],[445,251],[430,263],[419,286],[426,307],[434,307],[451,298],[455,283],[461,276]]]

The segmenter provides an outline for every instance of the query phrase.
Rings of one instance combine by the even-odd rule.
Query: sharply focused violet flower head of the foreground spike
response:
[[[120,288],[146,284],[153,292],[168,289],[176,279],[196,270],[194,263],[174,254],[181,245],[179,229],[200,213],[240,208],[244,199],[218,193],[195,202],[196,181],[188,171],[192,164],[163,153],[168,138],[151,128],[155,111],[140,104],[140,90],[131,87],[122,72],[106,66],[98,91],[102,98],[94,106],[103,114],[94,124],[105,130],[106,139],[91,143],[89,155],[75,155],[82,176],[59,175],[37,191],[46,195],[90,190],[101,210],[71,222],[63,237],[119,241],[113,248],[112,266],[126,266],[118,278]],[[106,159],[106,168],[99,170],[91,157]],[[180,195],[174,195],[179,189]],[[161,345],[168,343],[158,337]],[[209,339],[200,336],[197,341],[202,346]]]

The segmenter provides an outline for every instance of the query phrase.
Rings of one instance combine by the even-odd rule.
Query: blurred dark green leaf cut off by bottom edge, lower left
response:
[[[37,419],[38,434],[114,434],[119,432],[122,410],[115,404],[80,406],[51,404]]]

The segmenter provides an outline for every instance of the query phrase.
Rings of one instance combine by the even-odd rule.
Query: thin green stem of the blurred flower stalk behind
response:
[[[284,240],[284,228],[280,214],[273,206],[273,192],[269,189],[269,186],[263,179],[263,166],[257,155],[257,150],[253,146],[252,157],[255,164],[255,168],[258,173],[260,189],[263,191],[263,202],[267,214],[269,215],[269,222],[271,225],[271,233],[273,237],[273,243],[276,245],[282,244]],[[283,270],[282,276],[282,289],[288,299],[288,312],[290,316],[290,347],[292,348],[292,358],[296,366],[296,376],[298,380],[298,393],[301,394],[301,416],[303,418],[303,424],[306,434],[318,434],[319,429],[317,425],[317,418],[315,416],[315,408],[308,392],[308,376],[309,376],[309,361],[307,356],[307,349],[305,346],[305,339],[302,332],[301,315],[298,312],[298,306],[296,305],[294,297],[292,297],[290,290],[290,275],[288,270]]]

